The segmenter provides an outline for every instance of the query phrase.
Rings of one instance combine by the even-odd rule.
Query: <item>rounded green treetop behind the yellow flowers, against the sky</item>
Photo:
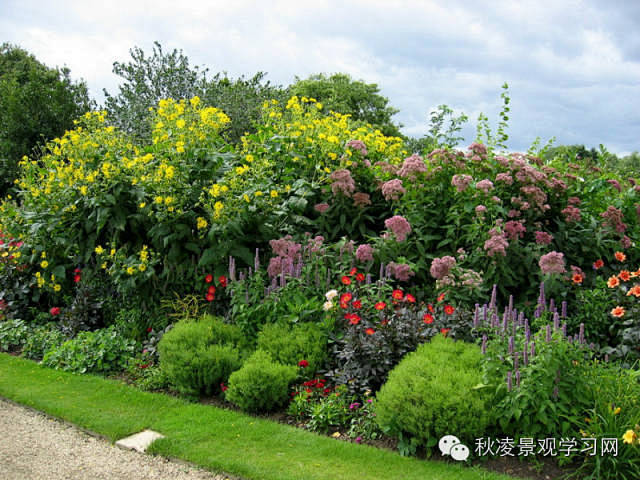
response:
[[[399,110],[389,105],[389,99],[380,95],[375,83],[353,80],[346,73],[326,76],[324,73],[311,75],[306,80],[296,77],[289,87],[292,95],[315,98],[327,110],[350,114],[354,120],[361,120],[379,128],[388,136],[403,137],[391,117]]]

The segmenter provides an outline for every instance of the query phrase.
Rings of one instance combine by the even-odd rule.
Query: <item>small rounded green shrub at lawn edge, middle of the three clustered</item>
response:
[[[275,410],[287,402],[297,374],[298,367],[282,365],[258,350],[229,377],[226,398],[247,412]]]

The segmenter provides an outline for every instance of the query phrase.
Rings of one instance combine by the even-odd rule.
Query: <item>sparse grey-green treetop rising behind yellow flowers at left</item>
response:
[[[113,64],[113,73],[122,78],[122,82],[116,95],[104,90],[105,109],[113,125],[138,141],[148,141],[151,137],[149,108],[161,99],[201,95],[207,70],[189,66],[182,50],[163,52],[158,42],[153,43],[150,56],[140,47],[133,47],[129,53],[128,63]]]

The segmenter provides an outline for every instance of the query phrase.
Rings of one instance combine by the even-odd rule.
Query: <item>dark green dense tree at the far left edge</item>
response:
[[[18,161],[60,136],[90,110],[87,86],[68,68],[49,68],[26,50],[0,46],[0,195],[17,176]]]

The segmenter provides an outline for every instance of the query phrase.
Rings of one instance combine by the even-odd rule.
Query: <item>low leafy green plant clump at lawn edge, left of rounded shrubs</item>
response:
[[[106,374],[124,370],[135,351],[136,342],[123,338],[114,327],[109,327],[80,332],[77,337],[46,352],[42,363],[76,373]]]

